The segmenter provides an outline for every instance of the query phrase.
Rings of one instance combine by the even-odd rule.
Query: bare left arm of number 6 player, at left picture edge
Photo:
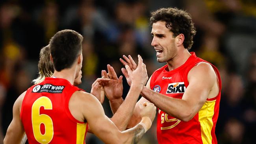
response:
[[[25,94],[26,91],[23,92],[19,98],[17,98],[13,105],[13,120],[7,129],[4,144],[19,144],[25,134],[22,122],[20,120],[20,107]]]

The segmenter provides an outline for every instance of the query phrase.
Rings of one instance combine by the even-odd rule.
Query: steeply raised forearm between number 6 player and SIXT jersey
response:
[[[111,118],[119,130],[123,131],[126,129],[128,122],[130,121],[130,118],[134,112],[134,107],[139,98],[140,91],[141,87],[131,86],[126,99]]]

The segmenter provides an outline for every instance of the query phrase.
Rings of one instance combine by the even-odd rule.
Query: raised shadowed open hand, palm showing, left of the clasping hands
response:
[[[110,79],[110,81],[103,85],[105,94],[109,100],[122,98],[122,76],[118,78],[114,68],[110,65],[107,65],[107,67],[108,73],[106,70],[102,70],[102,76]]]

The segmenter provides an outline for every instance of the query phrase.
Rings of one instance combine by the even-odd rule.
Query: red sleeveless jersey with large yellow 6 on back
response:
[[[85,144],[88,125],[69,111],[76,90],[82,89],[61,78],[45,78],[27,90],[20,119],[30,144]]]

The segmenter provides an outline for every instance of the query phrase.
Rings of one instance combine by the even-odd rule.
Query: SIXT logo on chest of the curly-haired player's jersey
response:
[[[186,90],[184,82],[169,83],[166,94],[184,93]]]

